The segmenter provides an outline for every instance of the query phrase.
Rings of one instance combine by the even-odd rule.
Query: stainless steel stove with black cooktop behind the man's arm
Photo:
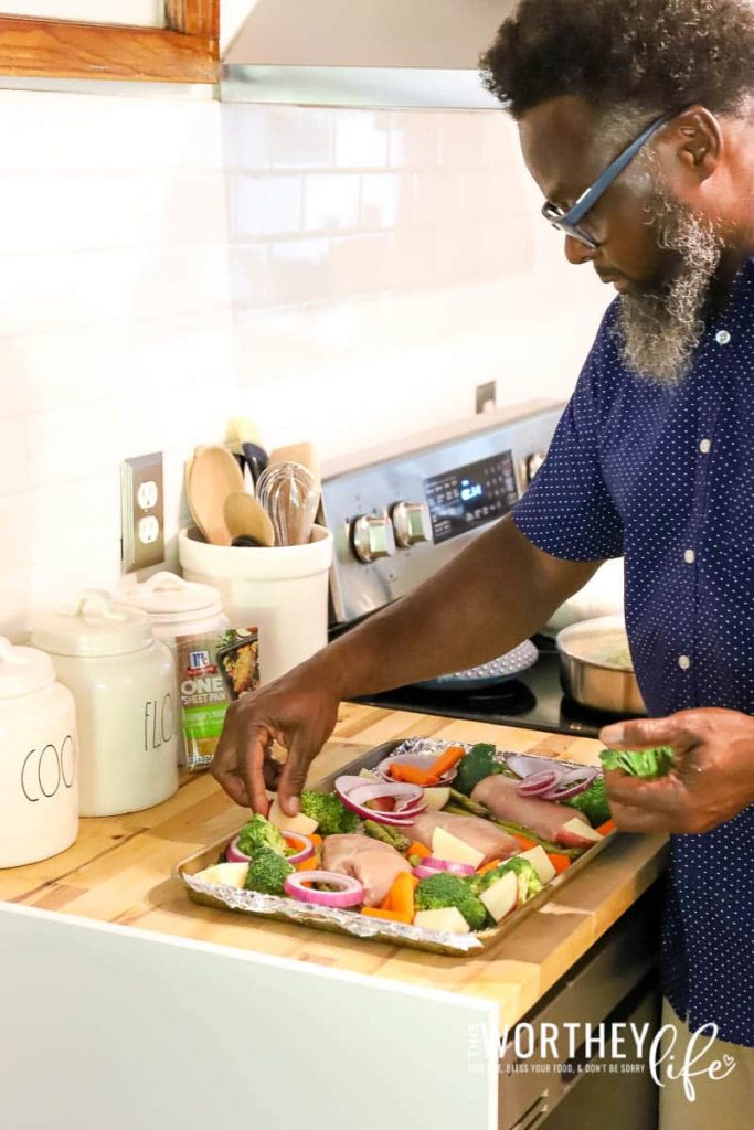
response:
[[[506,514],[545,458],[562,410],[556,401],[531,401],[327,466],[322,507],[335,538],[331,636],[410,592]],[[361,701],[586,736],[615,719],[567,698],[554,642],[534,642],[534,666],[499,681],[485,664],[470,677],[463,672],[458,687],[443,680]]]

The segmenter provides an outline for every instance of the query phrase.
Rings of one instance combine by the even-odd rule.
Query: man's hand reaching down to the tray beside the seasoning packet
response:
[[[335,729],[340,702],[312,667],[302,664],[228,706],[211,773],[236,805],[267,816],[266,788],[277,788],[284,812],[298,811],[309,766]],[[270,757],[274,741],[288,750],[281,772]]]

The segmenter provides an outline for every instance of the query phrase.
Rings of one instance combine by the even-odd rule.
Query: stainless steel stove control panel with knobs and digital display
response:
[[[350,623],[405,596],[508,514],[563,407],[537,401],[484,414],[327,466],[332,618]]]

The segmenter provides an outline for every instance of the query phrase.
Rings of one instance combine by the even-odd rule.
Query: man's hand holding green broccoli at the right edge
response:
[[[626,832],[709,832],[754,802],[754,719],[747,714],[684,710],[608,725],[599,738],[610,749],[673,749],[667,776],[605,774],[613,817]]]

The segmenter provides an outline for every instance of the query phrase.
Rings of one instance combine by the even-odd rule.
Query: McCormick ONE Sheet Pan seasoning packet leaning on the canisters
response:
[[[228,703],[259,686],[259,632],[231,628],[177,636],[185,767],[205,770],[217,749]]]

